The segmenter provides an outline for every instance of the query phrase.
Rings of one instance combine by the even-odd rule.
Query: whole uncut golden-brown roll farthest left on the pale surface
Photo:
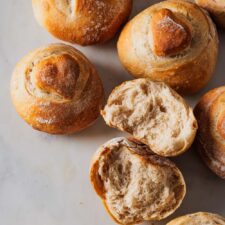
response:
[[[104,90],[95,68],[75,48],[52,44],[25,56],[11,80],[13,104],[34,129],[68,134],[91,125]]]

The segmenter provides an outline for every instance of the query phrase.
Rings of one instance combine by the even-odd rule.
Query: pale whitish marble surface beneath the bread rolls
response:
[[[134,0],[133,15],[156,1]],[[2,0],[0,8],[0,225],[114,224],[92,190],[88,170],[96,148],[121,133],[101,118],[89,129],[71,136],[50,136],[32,130],[16,114],[9,82],[16,62],[33,48],[52,42],[33,18],[31,1]],[[96,65],[107,94],[126,79],[116,39],[80,48]],[[225,33],[220,32],[220,55],[212,82],[199,95],[225,83]],[[187,183],[187,195],[174,216],[211,211],[225,215],[225,181],[214,176],[195,150],[175,159]],[[166,220],[167,221],[167,220]],[[162,221],[159,224],[165,224]],[[157,224],[157,223],[155,223]]]

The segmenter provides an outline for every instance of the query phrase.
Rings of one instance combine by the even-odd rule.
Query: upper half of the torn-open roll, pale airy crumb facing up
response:
[[[186,151],[197,130],[184,99],[166,84],[147,78],[116,87],[101,114],[109,126],[128,132],[161,156]]]

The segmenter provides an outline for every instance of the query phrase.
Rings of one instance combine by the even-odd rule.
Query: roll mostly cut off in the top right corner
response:
[[[208,10],[216,23],[225,28],[225,1],[224,0],[195,0],[198,5]]]

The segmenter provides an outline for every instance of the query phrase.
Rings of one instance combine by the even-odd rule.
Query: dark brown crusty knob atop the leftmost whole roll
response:
[[[74,97],[80,67],[68,54],[43,59],[33,69],[33,78],[39,90],[54,93],[71,100]]]

